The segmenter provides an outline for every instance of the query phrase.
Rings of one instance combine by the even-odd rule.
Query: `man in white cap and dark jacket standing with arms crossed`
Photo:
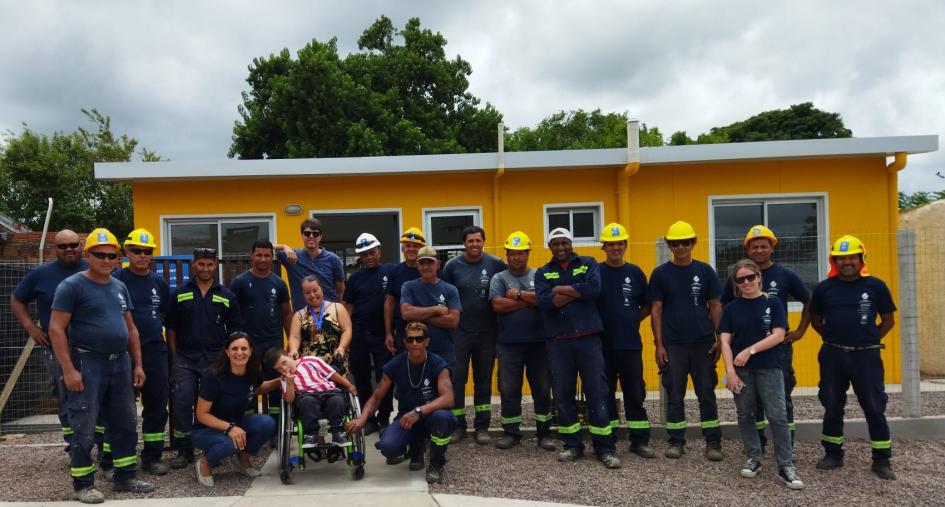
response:
[[[580,374],[594,453],[607,468],[619,468],[607,415],[607,379],[600,341],[603,324],[597,311],[600,267],[593,257],[575,254],[571,241],[570,231],[562,227],[553,229],[548,235],[552,259],[535,273],[535,294],[544,332],[551,340],[558,433],[564,442],[558,461],[574,461],[584,454],[574,400]]]

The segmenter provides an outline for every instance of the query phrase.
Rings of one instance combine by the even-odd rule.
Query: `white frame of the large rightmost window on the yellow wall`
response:
[[[830,207],[827,192],[796,192],[769,194],[731,194],[710,195],[708,198],[709,217],[709,263],[718,271],[715,258],[715,208],[719,205],[761,204],[763,225],[768,224],[768,206],[772,204],[814,204],[817,207],[817,282],[827,276],[830,238]],[[746,231],[747,232],[747,231]],[[777,234],[777,231],[775,231]],[[722,273],[720,273],[722,275]],[[724,281],[723,281],[724,282]],[[788,302],[788,311],[799,312],[803,305],[797,301]]]

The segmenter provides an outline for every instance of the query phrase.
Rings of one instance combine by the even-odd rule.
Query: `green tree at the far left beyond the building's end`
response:
[[[131,187],[96,180],[95,162],[127,162],[138,141],[116,136],[111,122],[98,111],[82,110],[93,129],[45,135],[24,126],[9,132],[0,149],[0,209],[33,230],[42,230],[47,198],[53,198],[49,228],[88,232],[107,227],[121,237],[133,228]],[[142,148],[144,161],[160,157]]]

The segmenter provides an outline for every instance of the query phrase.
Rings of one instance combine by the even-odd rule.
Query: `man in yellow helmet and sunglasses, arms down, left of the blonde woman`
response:
[[[722,461],[722,430],[719,426],[715,385],[720,344],[715,330],[722,318],[719,297],[722,287],[712,266],[692,258],[696,231],[686,222],[676,222],[665,236],[673,257],[650,275],[650,325],[656,344],[656,364],[666,386],[667,458],[679,459],[686,445],[686,410],[683,399],[688,378],[699,399],[705,457]]]

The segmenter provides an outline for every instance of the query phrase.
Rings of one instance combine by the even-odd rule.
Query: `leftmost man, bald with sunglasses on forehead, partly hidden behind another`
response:
[[[65,408],[62,406],[62,372],[59,369],[59,361],[56,360],[50,348],[47,333],[56,287],[66,278],[88,269],[89,263],[82,258],[82,242],[79,241],[79,235],[75,232],[69,229],[59,231],[53,238],[53,244],[56,246],[56,260],[37,266],[26,273],[10,296],[10,308],[23,329],[40,347],[46,371],[49,373],[50,389],[59,401],[62,437],[66,443],[69,443],[72,441],[72,428],[66,420]],[[36,301],[39,325],[30,316],[29,304],[33,301]],[[68,447],[66,449],[68,452]]]

